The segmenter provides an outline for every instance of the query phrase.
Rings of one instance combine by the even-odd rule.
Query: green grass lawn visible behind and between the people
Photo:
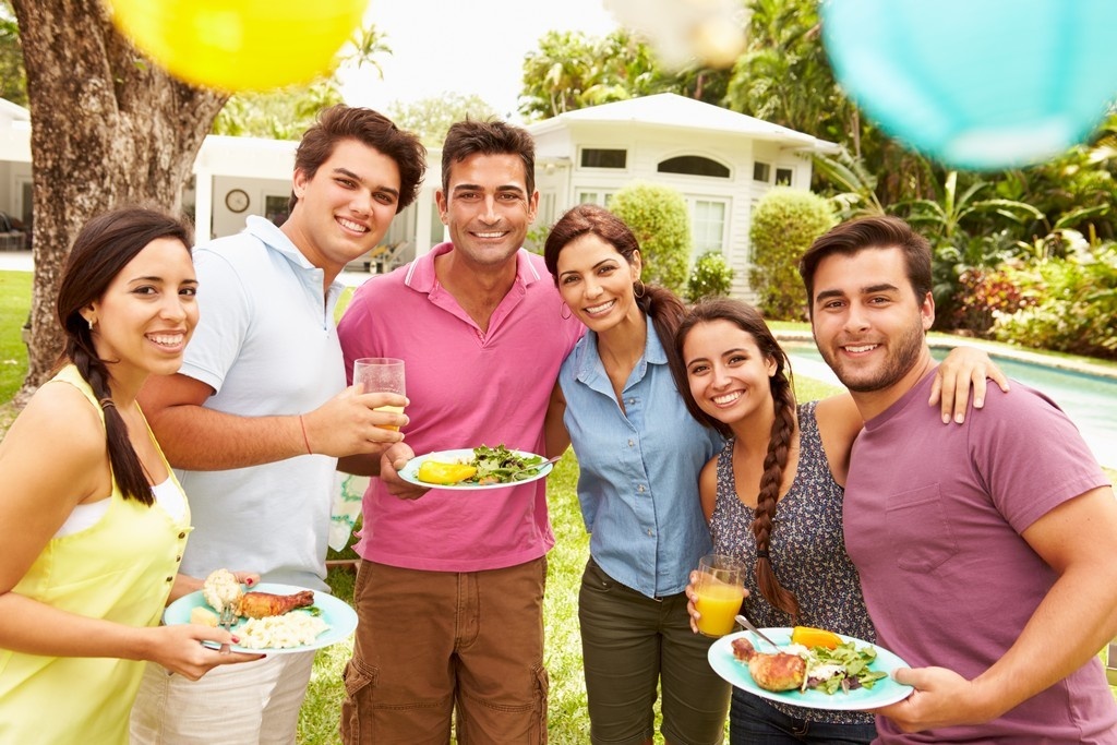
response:
[[[352,290],[346,290],[343,303]],[[20,328],[30,307],[31,275],[0,271],[0,434],[7,431],[15,409],[10,400],[27,374],[27,354]],[[805,328],[805,324],[773,324],[787,328]],[[808,401],[832,394],[836,389],[796,376],[800,400]],[[1107,471],[1117,480],[1117,471]],[[582,522],[576,495],[577,464],[573,452],[555,466],[547,480],[551,520],[556,545],[547,556],[547,588],[544,600],[546,665],[551,678],[548,699],[548,733],[554,745],[589,742],[589,717],[585,711],[585,682],[582,678],[582,651],[577,628],[577,589],[589,554],[589,536]],[[331,558],[352,557],[352,551],[331,554]],[[353,598],[353,573],[332,569],[328,576],[334,593],[346,601]],[[337,723],[342,701],[341,674],[352,641],[342,642],[318,652],[314,663],[306,703],[299,717],[298,742],[302,745],[333,745],[340,742]],[[1117,687],[1114,688],[1117,697]],[[662,738],[657,734],[657,743]]]

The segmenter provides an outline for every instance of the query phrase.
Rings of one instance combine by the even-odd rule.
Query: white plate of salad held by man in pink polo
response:
[[[552,468],[552,461],[534,452],[483,445],[417,456],[400,470],[400,478],[428,489],[505,489],[546,478]]]

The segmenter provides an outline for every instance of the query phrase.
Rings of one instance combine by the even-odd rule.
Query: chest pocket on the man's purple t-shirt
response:
[[[958,552],[937,484],[891,496],[885,527],[901,570],[930,572]]]

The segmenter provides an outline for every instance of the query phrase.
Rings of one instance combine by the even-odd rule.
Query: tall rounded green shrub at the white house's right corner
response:
[[[748,283],[765,317],[806,318],[799,259],[837,221],[828,200],[801,189],[776,187],[756,204],[748,230],[753,254]]]

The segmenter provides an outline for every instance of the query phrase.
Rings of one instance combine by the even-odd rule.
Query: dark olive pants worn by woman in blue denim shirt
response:
[[[690,630],[684,593],[653,599],[605,574],[591,557],[577,617],[594,745],[652,737],[657,689],[671,745],[715,745],[725,735],[729,684],[707,660],[714,639]]]

